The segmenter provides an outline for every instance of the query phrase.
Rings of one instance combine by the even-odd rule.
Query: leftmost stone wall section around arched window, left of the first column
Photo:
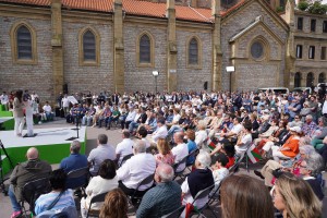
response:
[[[37,63],[13,63],[10,31],[17,22],[28,23],[36,32]],[[0,89],[11,92],[19,88],[37,93],[41,100],[52,95],[51,23],[49,20],[0,16]]]

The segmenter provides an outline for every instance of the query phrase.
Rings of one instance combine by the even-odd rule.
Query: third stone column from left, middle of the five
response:
[[[168,41],[167,41],[167,87],[177,90],[177,40],[174,0],[167,0]]]

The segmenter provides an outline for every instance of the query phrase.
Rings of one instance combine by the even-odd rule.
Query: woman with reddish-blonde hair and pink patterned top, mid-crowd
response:
[[[165,138],[159,138],[157,142],[157,148],[159,154],[155,155],[157,166],[159,164],[173,165],[174,156],[171,153],[170,146]]]

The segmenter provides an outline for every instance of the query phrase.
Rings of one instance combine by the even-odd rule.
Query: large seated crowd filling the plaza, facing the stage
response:
[[[209,199],[218,198],[218,191],[223,217],[274,217],[277,211],[284,218],[322,217],[327,96],[267,90],[135,93],[90,99],[97,99],[89,102],[96,107],[81,102],[66,108],[68,122],[81,119],[82,124],[108,130],[114,122],[122,129],[121,143],[114,148],[106,134],[99,134],[98,146],[85,157],[74,141],[71,155],[52,172],[38,159],[36,148],[31,148],[27,162],[17,165],[11,177],[12,217],[22,213],[19,193],[24,184],[45,175],[50,178],[52,192],[36,201],[36,215],[71,209],[75,205],[68,195],[73,197],[73,192],[66,189],[85,184],[82,217],[89,210],[99,210],[100,217],[126,217],[129,203],[137,208],[137,218],[162,217],[182,205],[186,213],[192,207],[201,213]],[[264,181],[234,174],[246,156],[264,165],[254,171]],[[29,168],[38,161],[38,168]],[[86,175],[66,175],[82,168],[89,170],[89,181]],[[20,170],[26,171],[23,179]],[[198,197],[204,191],[208,193]],[[108,193],[105,202],[90,204],[102,193]],[[59,199],[52,206],[55,196]]]

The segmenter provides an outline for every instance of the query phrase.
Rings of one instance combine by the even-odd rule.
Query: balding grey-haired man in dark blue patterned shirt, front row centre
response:
[[[156,169],[157,185],[145,193],[136,211],[137,218],[162,217],[181,206],[182,190],[173,180],[170,165],[160,164]]]

